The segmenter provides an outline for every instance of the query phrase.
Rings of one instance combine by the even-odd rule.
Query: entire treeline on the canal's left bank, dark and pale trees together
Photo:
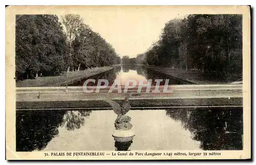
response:
[[[120,64],[114,48],[79,15],[65,15],[61,22],[56,15],[16,16],[17,79]]]

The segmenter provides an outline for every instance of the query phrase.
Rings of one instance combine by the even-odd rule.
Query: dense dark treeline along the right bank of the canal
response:
[[[242,73],[242,15],[189,15],[170,20],[145,56],[148,65]]]

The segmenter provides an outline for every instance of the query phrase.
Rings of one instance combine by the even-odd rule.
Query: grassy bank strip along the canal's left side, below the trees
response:
[[[57,87],[65,86],[70,81],[86,78],[99,74],[104,71],[111,70],[113,67],[98,67],[93,69],[68,72],[66,75],[61,76],[45,76],[36,77],[35,79],[25,79],[16,81],[16,87]]]

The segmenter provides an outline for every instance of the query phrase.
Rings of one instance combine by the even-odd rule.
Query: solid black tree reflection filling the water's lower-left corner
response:
[[[16,151],[42,150],[57,135],[63,111],[17,111]]]

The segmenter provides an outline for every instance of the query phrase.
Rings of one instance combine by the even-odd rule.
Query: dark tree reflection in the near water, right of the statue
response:
[[[203,150],[242,150],[242,109],[168,109],[166,115],[181,121],[183,127],[201,142]]]

